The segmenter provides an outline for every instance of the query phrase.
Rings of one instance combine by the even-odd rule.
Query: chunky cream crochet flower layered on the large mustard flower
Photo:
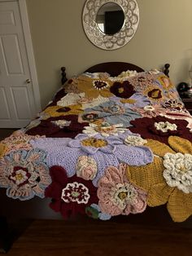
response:
[[[170,187],[185,193],[192,192],[192,155],[166,153],[164,155],[164,179]]]

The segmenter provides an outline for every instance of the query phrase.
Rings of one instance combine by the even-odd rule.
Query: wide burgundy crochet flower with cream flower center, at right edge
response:
[[[143,117],[131,121],[129,127],[133,133],[142,135],[144,139],[156,139],[168,143],[170,135],[179,135],[181,138],[192,140],[192,134],[185,120],[172,120],[166,117]]]

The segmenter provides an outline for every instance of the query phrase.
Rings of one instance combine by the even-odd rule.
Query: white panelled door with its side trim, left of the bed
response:
[[[0,128],[24,127],[40,110],[24,5],[24,0],[0,1]]]

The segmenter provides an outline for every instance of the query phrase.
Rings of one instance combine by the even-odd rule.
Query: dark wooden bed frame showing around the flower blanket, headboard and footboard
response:
[[[164,73],[168,76],[169,73],[169,64],[164,64]],[[129,64],[124,62],[107,62],[102,64],[96,64],[88,69],[85,72],[94,73],[94,72],[107,72],[111,76],[117,76],[123,71],[126,70],[136,70],[137,72],[143,72],[144,69],[138,67],[135,64]],[[66,68],[61,68],[61,83],[62,85],[68,81],[66,76]],[[5,190],[1,189],[0,193],[1,209],[0,209],[0,225],[1,219],[5,222],[7,218],[8,222],[12,223],[20,219],[37,219],[37,218],[62,218],[60,214],[55,213],[53,210],[50,210],[49,202],[50,199],[45,198],[41,200],[37,196],[29,201],[18,201],[13,200],[6,196]],[[1,217],[2,216],[2,217]],[[3,216],[6,216],[4,218]],[[88,217],[86,217],[88,218]],[[114,220],[115,219],[115,220]],[[192,219],[188,219],[185,223],[173,223],[171,217],[169,216],[166,206],[159,206],[155,208],[147,207],[146,211],[142,214],[130,214],[129,217],[117,216],[113,218],[112,221],[116,219],[124,219],[129,223],[137,224],[158,224],[161,223],[168,225],[180,225],[181,227],[192,227]],[[1,231],[0,231],[1,232]],[[1,235],[1,234],[0,234]],[[0,236],[1,242],[1,236]]]

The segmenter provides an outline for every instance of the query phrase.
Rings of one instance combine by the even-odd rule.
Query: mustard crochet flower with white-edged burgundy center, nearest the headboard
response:
[[[97,98],[101,95],[108,98],[113,96],[109,89],[113,82],[107,78],[97,79],[80,76],[76,79],[76,84],[79,90],[85,92],[86,97]]]

